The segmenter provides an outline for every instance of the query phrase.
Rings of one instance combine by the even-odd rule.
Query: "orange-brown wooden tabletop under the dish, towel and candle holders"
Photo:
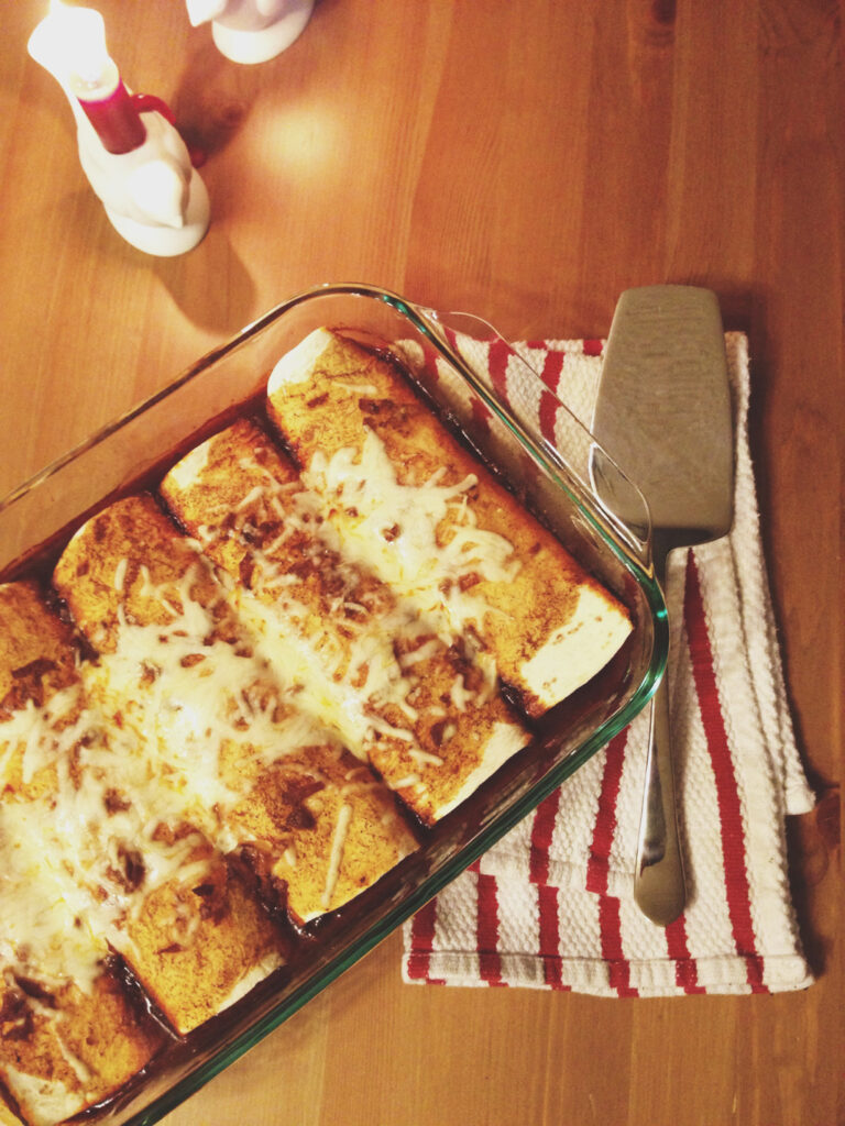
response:
[[[602,336],[628,286],[720,295],[750,337],[753,453],[801,750],[791,825],[817,984],[602,1001],[400,983],[393,936],[168,1126],[829,1126],[845,1120],[843,181],[835,0],[318,0],[239,68],[179,0],[90,0],[126,81],[207,150],[204,242],[133,250],[3,6],[0,493],[283,298],[367,280],[515,339]]]

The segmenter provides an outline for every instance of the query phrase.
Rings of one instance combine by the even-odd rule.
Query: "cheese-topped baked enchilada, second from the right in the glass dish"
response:
[[[239,613],[286,669],[302,706],[424,822],[528,741],[489,667],[321,535],[317,499],[252,422],[188,454],[161,494],[234,580]]]

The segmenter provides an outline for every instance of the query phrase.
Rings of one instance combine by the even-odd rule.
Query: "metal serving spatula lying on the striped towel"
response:
[[[664,586],[668,553],[726,535],[733,515],[730,388],[714,293],[660,285],[622,294],[593,434],[648,501]],[[634,899],[665,927],[686,902],[666,677],[651,708]]]

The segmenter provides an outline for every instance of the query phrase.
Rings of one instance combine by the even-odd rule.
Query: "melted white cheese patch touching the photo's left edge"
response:
[[[24,787],[0,805],[0,962],[84,992],[109,945],[130,948],[128,922],[149,892],[195,886],[207,869],[192,859],[196,833],[159,832],[183,825],[185,795],[176,771],[109,714],[104,678],[107,665],[84,663],[77,682],[0,723],[0,766],[8,777],[20,756]]]

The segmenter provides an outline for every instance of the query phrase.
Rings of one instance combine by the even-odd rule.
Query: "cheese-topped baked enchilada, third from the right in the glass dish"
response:
[[[95,517],[56,582],[100,653],[108,713],[139,732],[192,823],[243,854],[294,923],[341,906],[413,850],[393,795],[301,712],[214,568],[151,497]]]

